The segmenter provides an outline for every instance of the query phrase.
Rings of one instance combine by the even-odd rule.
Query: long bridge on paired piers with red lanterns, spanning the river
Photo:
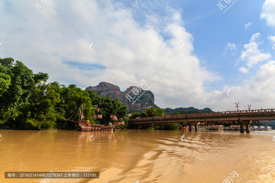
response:
[[[193,113],[193,114],[181,114],[171,116],[158,116],[158,117],[144,117],[131,119],[130,123],[141,124],[153,124],[155,126],[162,126],[165,123],[186,123],[189,125],[189,131],[191,131],[191,125],[197,127],[202,122],[213,121],[238,121],[240,124],[240,132],[244,132],[244,125],[246,126],[246,132],[249,133],[249,124],[252,120],[275,120],[275,109],[259,109],[259,110],[243,110],[243,111],[226,111],[226,112],[212,112],[212,113]]]

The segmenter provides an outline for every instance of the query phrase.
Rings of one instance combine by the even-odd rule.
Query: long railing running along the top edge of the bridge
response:
[[[211,113],[193,113],[187,114],[187,117],[195,117],[195,116],[216,116],[216,115],[232,115],[232,114],[256,114],[256,113],[275,113],[275,109],[257,109],[257,110],[241,110],[241,111],[224,111],[224,112],[211,112]],[[157,116],[157,117],[142,117],[138,119],[131,120],[146,120],[146,119],[158,119],[158,118],[182,118],[186,117],[185,114],[180,115],[170,115],[170,116]]]

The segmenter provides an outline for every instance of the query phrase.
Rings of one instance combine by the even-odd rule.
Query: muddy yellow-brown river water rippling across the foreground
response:
[[[98,171],[99,179],[57,183],[275,182],[273,131],[16,131],[0,130],[0,182],[5,171]],[[89,136],[94,140],[89,142]],[[185,134],[185,141],[180,136]],[[1,138],[0,138],[1,139]],[[54,180],[51,180],[52,183]]]

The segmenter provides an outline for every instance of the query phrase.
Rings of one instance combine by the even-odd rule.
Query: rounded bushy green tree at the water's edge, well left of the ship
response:
[[[47,88],[48,94],[43,95],[43,90]],[[48,85],[39,85],[31,91],[28,102],[5,113],[9,118],[8,124],[24,130],[53,129],[56,127],[57,119],[64,117],[54,110],[54,105],[60,102],[59,94]]]

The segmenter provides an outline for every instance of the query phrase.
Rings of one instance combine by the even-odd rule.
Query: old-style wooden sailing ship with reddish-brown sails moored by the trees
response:
[[[95,119],[102,119],[102,114],[98,114],[100,108],[95,108],[96,114],[94,115]],[[76,131],[112,131],[115,126],[123,125],[124,121],[118,122],[116,115],[110,115],[110,118],[112,121],[105,124],[92,124],[89,120],[83,120],[83,106],[81,106],[81,109],[79,108],[79,120],[73,121],[75,122],[75,130]],[[76,111],[77,112],[77,111]],[[114,112],[115,114],[115,112]],[[70,120],[71,121],[71,120]]]

